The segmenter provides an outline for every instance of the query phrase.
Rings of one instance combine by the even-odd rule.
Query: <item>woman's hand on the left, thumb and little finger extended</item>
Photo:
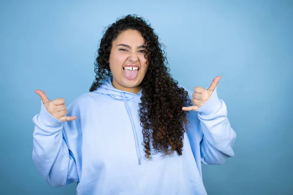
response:
[[[70,121],[70,120],[75,120],[76,116],[73,117],[68,117],[65,116],[67,114],[67,110],[66,110],[66,106],[64,105],[65,103],[65,99],[63,98],[57,98],[54,99],[52,101],[50,101],[46,94],[42,91],[37,89],[35,91],[36,94],[38,94],[46,108],[46,110],[48,111],[48,113],[50,113],[53,117],[57,118],[58,120],[61,121]]]

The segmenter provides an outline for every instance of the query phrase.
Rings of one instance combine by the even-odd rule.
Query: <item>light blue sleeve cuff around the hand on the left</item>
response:
[[[57,128],[60,127],[63,121],[53,117],[45,108],[43,102],[41,101],[41,112],[38,117],[40,125],[46,128]]]

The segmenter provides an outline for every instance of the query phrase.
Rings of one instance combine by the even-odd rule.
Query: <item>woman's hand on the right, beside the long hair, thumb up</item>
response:
[[[213,90],[217,87],[220,79],[221,79],[220,76],[214,78],[208,89],[204,89],[202,87],[194,87],[193,90],[195,93],[192,94],[192,100],[191,100],[194,106],[182,107],[182,110],[196,111],[198,108],[204,105],[210,98]]]

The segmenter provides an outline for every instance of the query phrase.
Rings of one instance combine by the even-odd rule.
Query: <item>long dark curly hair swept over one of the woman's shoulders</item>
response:
[[[182,155],[185,127],[189,123],[187,112],[182,107],[192,104],[188,92],[169,74],[166,47],[159,43],[159,37],[144,18],[127,15],[108,26],[100,42],[95,60],[96,77],[89,91],[96,90],[112,76],[108,63],[112,41],[129,29],[140,32],[147,51],[148,69],[141,83],[143,90],[139,103],[145,157],[151,159],[151,143],[154,154],[160,152],[165,157],[177,151]]]

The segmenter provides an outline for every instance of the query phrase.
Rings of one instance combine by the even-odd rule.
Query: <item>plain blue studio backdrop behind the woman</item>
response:
[[[235,156],[204,165],[209,195],[293,195],[293,1],[0,2],[0,194],[74,195],[52,188],[32,161],[41,102],[88,92],[103,30],[127,14],[149,20],[173,78],[209,87],[237,133]]]

